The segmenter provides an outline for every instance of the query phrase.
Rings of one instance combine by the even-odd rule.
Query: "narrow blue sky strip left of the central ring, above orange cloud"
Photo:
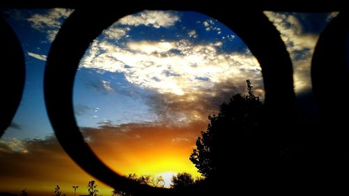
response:
[[[39,22],[34,25],[31,20],[38,16],[47,15],[47,10],[10,10],[8,11],[8,23],[22,43],[26,61],[26,80],[24,84],[23,98],[20,107],[15,114],[13,124],[15,128],[8,128],[6,138],[43,138],[52,133],[48,121],[43,98],[43,73],[45,70],[45,56],[52,43],[52,33],[58,31],[61,22],[68,16],[66,10],[61,12],[51,11],[54,23]],[[46,18],[47,21],[50,18]],[[59,26],[58,26],[59,25]],[[50,37],[51,36],[51,37]]]

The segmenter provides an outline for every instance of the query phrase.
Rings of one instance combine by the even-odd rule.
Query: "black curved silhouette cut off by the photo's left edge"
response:
[[[1,13],[0,13],[1,14]],[[22,99],[25,66],[22,45],[17,39],[15,32],[5,22],[0,15],[0,59],[1,59],[1,75],[0,89],[1,100],[1,121],[0,121],[0,137],[15,116],[20,100]],[[9,82],[10,81],[10,82]]]

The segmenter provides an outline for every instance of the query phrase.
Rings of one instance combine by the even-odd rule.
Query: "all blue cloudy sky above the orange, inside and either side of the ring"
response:
[[[8,10],[8,22],[22,43],[27,74],[20,108],[3,139],[44,138],[52,133],[43,100],[45,59],[60,25],[72,12],[59,8]],[[309,90],[313,47],[334,13],[265,13],[288,46],[296,93]],[[159,107],[156,98],[172,95],[174,99],[191,92],[195,94],[192,99],[214,99],[213,86],[229,80],[235,88],[226,90],[237,93],[244,89],[245,78],[253,81],[256,93],[262,97],[258,62],[223,24],[195,12],[146,10],[114,23],[91,44],[76,76],[75,114],[84,127],[161,121],[163,115],[184,119],[195,111],[185,114],[169,108],[169,114],[160,114],[154,108]],[[198,95],[199,91],[207,93]],[[206,109],[203,116],[214,110],[211,106]]]

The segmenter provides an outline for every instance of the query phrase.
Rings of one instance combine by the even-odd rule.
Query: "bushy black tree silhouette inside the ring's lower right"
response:
[[[254,133],[262,121],[262,103],[253,94],[251,81],[246,80],[246,83],[248,95],[237,93],[228,103],[222,103],[218,114],[209,115],[207,130],[196,140],[190,160],[202,176],[222,179],[225,172],[235,169],[232,165],[247,167],[244,164],[255,158]]]

